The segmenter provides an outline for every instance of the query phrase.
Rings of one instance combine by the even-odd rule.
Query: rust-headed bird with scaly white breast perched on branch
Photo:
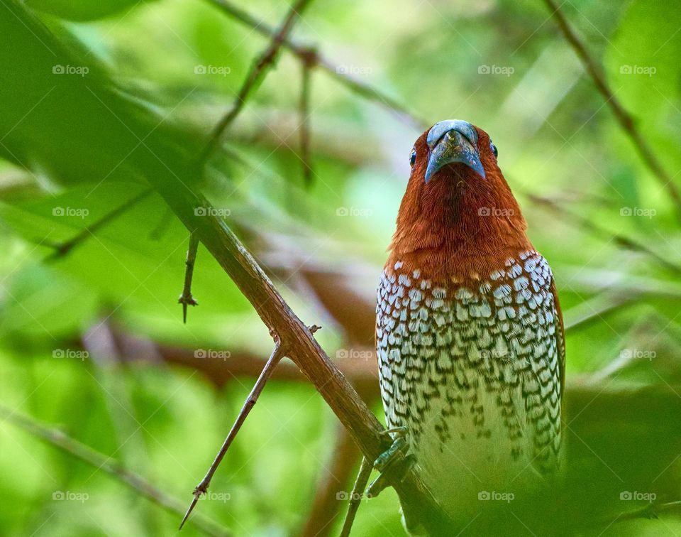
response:
[[[419,136],[377,291],[388,431],[462,527],[560,467],[563,318],[498,156],[460,119]]]

